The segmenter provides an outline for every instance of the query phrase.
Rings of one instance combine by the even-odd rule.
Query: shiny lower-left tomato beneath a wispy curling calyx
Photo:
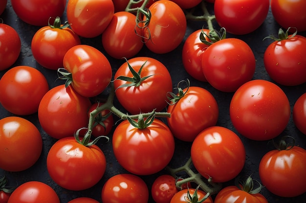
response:
[[[61,187],[84,190],[101,180],[106,169],[106,159],[96,145],[87,147],[78,143],[74,137],[65,137],[50,148],[47,169],[50,177]]]

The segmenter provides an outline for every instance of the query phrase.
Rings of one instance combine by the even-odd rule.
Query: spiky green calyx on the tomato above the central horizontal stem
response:
[[[127,59],[126,59],[127,60]],[[119,86],[117,89],[119,88],[124,88],[124,87],[132,87],[132,86],[135,86],[135,87],[139,87],[141,85],[141,83],[147,79],[148,77],[151,77],[152,75],[148,75],[148,76],[145,76],[145,77],[141,77],[140,74],[141,74],[141,71],[143,69],[143,67],[145,66],[145,64],[147,63],[147,61],[145,61],[142,66],[140,67],[139,71],[136,72],[130,65],[130,63],[128,62],[127,60],[127,63],[128,63],[128,66],[129,66],[129,69],[133,75],[133,77],[127,77],[127,76],[118,76],[116,78],[116,80],[124,80],[124,81],[127,81],[128,83],[125,83],[121,86]]]

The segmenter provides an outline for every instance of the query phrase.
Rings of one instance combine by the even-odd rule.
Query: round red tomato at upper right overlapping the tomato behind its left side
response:
[[[222,92],[235,92],[255,73],[255,56],[247,43],[238,38],[221,39],[202,55],[202,71],[207,81]]]

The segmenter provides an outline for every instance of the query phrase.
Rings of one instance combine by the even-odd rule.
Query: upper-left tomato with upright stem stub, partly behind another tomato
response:
[[[57,70],[63,67],[66,52],[81,44],[80,38],[70,28],[61,28],[60,18],[54,25],[44,26],[32,38],[31,50],[35,60],[44,68]]]

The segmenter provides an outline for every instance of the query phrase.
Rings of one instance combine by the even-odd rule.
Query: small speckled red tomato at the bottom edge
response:
[[[167,174],[158,176],[151,188],[152,198],[155,203],[170,203],[177,192],[175,178]]]

